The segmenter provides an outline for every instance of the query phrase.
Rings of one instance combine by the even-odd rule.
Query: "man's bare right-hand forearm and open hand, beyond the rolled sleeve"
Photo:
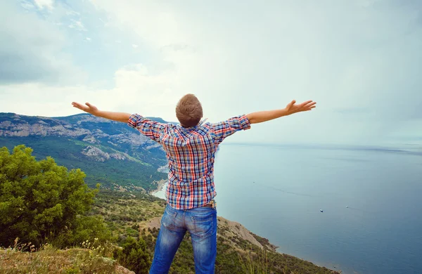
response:
[[[277,119],[283,116],[292,115],[293,113],[309,111],[312,110],[314,107],[316,107],[316,102],[313,102],[312,100],[303,102],[301,104],[296,104],[296,101],[293,100],[281,110],[252,112],[246,115],[246,117],[248,117],[250,124],[257,124],[267,122],[272,119]]]

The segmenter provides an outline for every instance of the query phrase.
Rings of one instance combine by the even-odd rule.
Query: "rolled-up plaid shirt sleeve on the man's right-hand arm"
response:
[[[219,144],[236,131],[250,129],[250,122],[246,115],[230,118],[226,121],[212,124],[211,132],[214,141]]]

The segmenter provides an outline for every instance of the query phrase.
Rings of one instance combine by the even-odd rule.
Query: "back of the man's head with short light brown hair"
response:
[[[190,93],[183,96],[177,103],[176,117],[179,119],[181,126],[184,127],[199,124],[203,117],[203,110],[198,98]]]

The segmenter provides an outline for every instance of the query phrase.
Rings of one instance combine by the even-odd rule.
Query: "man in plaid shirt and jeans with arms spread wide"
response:
[[[296,112],[312,110],[312,100],[291,101],[281,110],[253,112],[216,124],[200,123],[203,109],[196,96],[186,94],[179,100],[176,116],[180,124],[162,124],[124,112],[98,110],[89,103],[72,103],[92,115],[128,123],[164,148],[169,168],[167,207],[150,273],[168,273],[186,230],[191,233],[196,273],[214,273],[217,256],[217,209],[214,197],[214,157],[217,146],[236,131],[250,124],[266,122]]]

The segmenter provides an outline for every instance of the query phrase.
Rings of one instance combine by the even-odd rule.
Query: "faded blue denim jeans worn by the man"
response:
[[[214,273],[217,256],[217,210],[210,207],[179,210],[167,204],[150,274],[168,273],[186,230],[191,233],[195,273]]]

